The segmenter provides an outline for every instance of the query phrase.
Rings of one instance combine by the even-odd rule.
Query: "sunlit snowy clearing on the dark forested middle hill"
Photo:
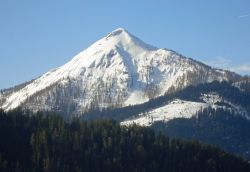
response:
[[[235,114],[241,115],[248,120],[250,119],[250,116],[245,108],[223,99],[216,93],[203,94],[201,100],[203,100],[203,102],[175,99],[159,108],[132,116],[122,121],[121,125],[137,124],[141,126],[150,126],[159,121],[168,122],[175,118],[191,118],[196,116],[198,112],[208,107],[213,109],[221,108],[226,111],[234,111]],[[229,106],[222,104],[227,104]]]

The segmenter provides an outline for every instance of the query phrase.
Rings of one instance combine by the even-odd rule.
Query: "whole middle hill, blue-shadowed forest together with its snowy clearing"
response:
[[[250,93],[243,89],[245,84],[235,84],[189,86],[144,104],[93,111],[83,118],[149,126],[172,138],[198,139],[250,160]]]

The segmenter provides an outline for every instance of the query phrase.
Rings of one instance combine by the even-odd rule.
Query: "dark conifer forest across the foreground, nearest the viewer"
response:
[[[216,147],[111,120],[0,111],[0,138],[0,171],[250,171]]]

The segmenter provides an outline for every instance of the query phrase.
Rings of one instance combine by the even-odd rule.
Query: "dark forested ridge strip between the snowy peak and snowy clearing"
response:
[[[123,108],[104,108],[101,110],[93,109],[88,113],[85,113],[81,118],[86,120],[95,119],[114,119],[117,121],[124,121],[130,117],[137,116],[138,114],[147,113],[152,109],[162,107],[174,99],[181,99],[193,102],[204,102],[201,99],[202,94],[216,93],[222,97],[222,99],[232,102],[235,105],[240,105],[250,112],[250,93],[245,91],[247,86],[239,88],[232,85],[230,82],[218,82],[203,83],[196,86],[189,86],[183,90],[175,91],[171,94],[151,99],[146,103],[131,105]],[[250,85],[250,84],[249,84]],[[220,105],[219,103],[216,103]],[[221,104],[225,107],[230,107],[229,104]]]

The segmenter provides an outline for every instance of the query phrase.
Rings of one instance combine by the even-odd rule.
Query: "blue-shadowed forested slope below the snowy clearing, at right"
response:
[[[197,139],[250,159],[250,121],[234,112],[208,108],[190,119],[157,122],[152,127],[170,138]]]

